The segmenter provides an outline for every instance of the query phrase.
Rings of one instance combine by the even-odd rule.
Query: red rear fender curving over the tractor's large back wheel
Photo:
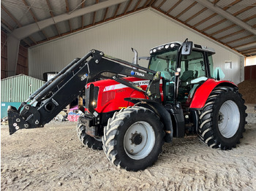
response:
[[[203,85],[197,88],[195,95],[192,98],[192,102],[189,106],[190,109],[201,109],[206,104],[208,96],[211,91],[217,86],[237,87],[233,82],[222,80],[217,81],[215,79],[207,79]]]

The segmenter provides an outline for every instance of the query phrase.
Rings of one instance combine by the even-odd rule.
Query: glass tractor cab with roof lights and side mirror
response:
[[[186,43],[171,42],[150,50],[148,69],[161,71],[164,104],[178,101],[189,107],[197,87],[212,76],[214,50],[190,42],[185,52]]]

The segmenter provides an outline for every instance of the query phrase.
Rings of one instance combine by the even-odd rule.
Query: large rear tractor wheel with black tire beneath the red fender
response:
[[[232,149],[240,143],[246,106],[236,87],[216,87],[200,111],[200,139],[212,148]]]

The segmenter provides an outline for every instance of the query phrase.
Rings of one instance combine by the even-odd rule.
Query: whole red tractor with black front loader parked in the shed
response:
[[[214,72],[213,54],[187,39],[162,44],[150,50],[146,69],[137,52],[129,63],[91,50],[18,109],[10,106],[10,134],[45,125],[80,96],[80,141],[127,171],[152,165],[173,136],[197,133],[209,147],[232,149],[245,130],[246,106],[238,87]]]

